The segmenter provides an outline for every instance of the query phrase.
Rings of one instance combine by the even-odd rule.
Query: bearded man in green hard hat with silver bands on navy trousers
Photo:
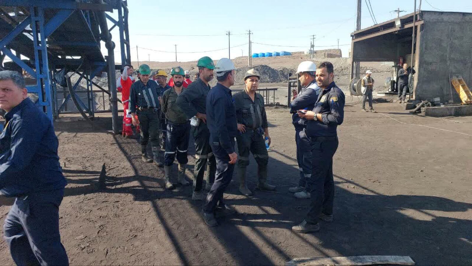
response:
[[[189,185],[189,182],[185,180],[185,169],[188,162],[187,148],[190,136],[190,121],[176,104],[176,99],[183,89],[184,70],[181,67],[175,67],[170,72],[170,75],[174,79],[174,86],[166,90],[162,96],[162,112],[166,115],[167,119],[167,143],[164,155],[166,189],[174,188],[170,181],[170,173],[172,172],[172,164],[174,163],[176,153],[178,161],[177,180],[184,186]]]

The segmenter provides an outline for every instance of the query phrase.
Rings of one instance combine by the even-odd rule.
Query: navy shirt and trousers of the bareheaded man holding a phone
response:
[[[336,153],[337,126],[344,120],[345,95],[343,91],[331,82],[325,89],[320,90],[313,112],[321,114],[321,121],[309,120],[306,126],[307,136],[312,147],[312,176],[307,179],[310,188],[310,210],[305,221],[318,223],[318,215],[333,214],[334,180],[333,156]]]

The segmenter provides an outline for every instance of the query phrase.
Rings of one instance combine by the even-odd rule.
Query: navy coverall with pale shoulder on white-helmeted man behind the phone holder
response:
[[[296,98],[290,103],[290,112],[292,113],[292,124],[295,126],[295,144],[296,161],[300,170],[299,187],[305,187],[306,179],[312,176],[312,151],[310,148],[310,139],[306,136],[305,128],[307,120],[300,118],[297,110],[312,110],[315,106],[320,87],[313,80],[305,86]]]

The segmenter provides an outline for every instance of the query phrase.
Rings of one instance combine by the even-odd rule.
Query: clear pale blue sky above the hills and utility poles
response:
[[[374,25],[367,7],[369,0],[362,0],[362,28]],[[429,3],[428,3],[428,2]],[[422,0],[422,10],[443,10],[472,12],[471,0]],[[350,51],[351,36],[355,29],[356,0],[298,0],[287,2],[269,0],[239,1],[155,1],[129,0],[129,30],[131,38],[131,58],[135,61],[138,47],[139,60],[191,61],[202,56],[214,60],[228,57],[228,36],[231,31],[231,58],[247,56],[248,35],[253,35],[253,52],[306,51],[309,49],[311,35],[315,34],[316,50],[342,49],[344,57]],[[416,1],[417,5],[419,0]],[[405,10],[400,16],[413,12],[413,0],[370,0],[373,15],[378,23],[396,17],[397,8]],[[113,17],[116,14],[112,15]],[[117,29],[117,28],[116,28]],[[118,30],[112,32],[117,44],[116,60],[119,56]],[[159,35],[213,35],[213,36],[159,36]],[[214,36],[216,35],[216,36]],[[263,45],[287,45],[284,47]],[[331,47],[329,47],[331,46]],[[221,51],[180,53],[192,51]],[[160,52],[170,51],[170,52]]]

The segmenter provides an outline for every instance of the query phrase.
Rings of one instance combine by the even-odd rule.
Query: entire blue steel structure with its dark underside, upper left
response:
[[[118,19],[109,14],[115,11]],[[116,109],[117,100],[115,74],[111,70],[121,66],[114,63],[110,31],[118,27],[121,65],[130,64],[128,13],[126,0],[0,0],[0,69],[24,69],[29,73],[36,84],[28,85],[28,92],[38,95],[36,103],[51,120],[64,112],[71,98],[68,94],[62,103],[56,104],[55,77],[64,73],[63,69],[65,73],[75,71],[80,75],[73,85],[74,93],[79,83],[86,80],[87,102],[76,97],[82,111],[93,117],[95,85],[111,96],[113,112],[113,101]],[[111,22],[111,28],[103,28],[108,25],[103,14]],[[108,56],[101,52],[101,41],[106,44]],[[5,56],[14,64],[3,63]],[[21,56],[27,60],[21,60]],[[109,91],[92,81],[101,72],[108,72]]]

